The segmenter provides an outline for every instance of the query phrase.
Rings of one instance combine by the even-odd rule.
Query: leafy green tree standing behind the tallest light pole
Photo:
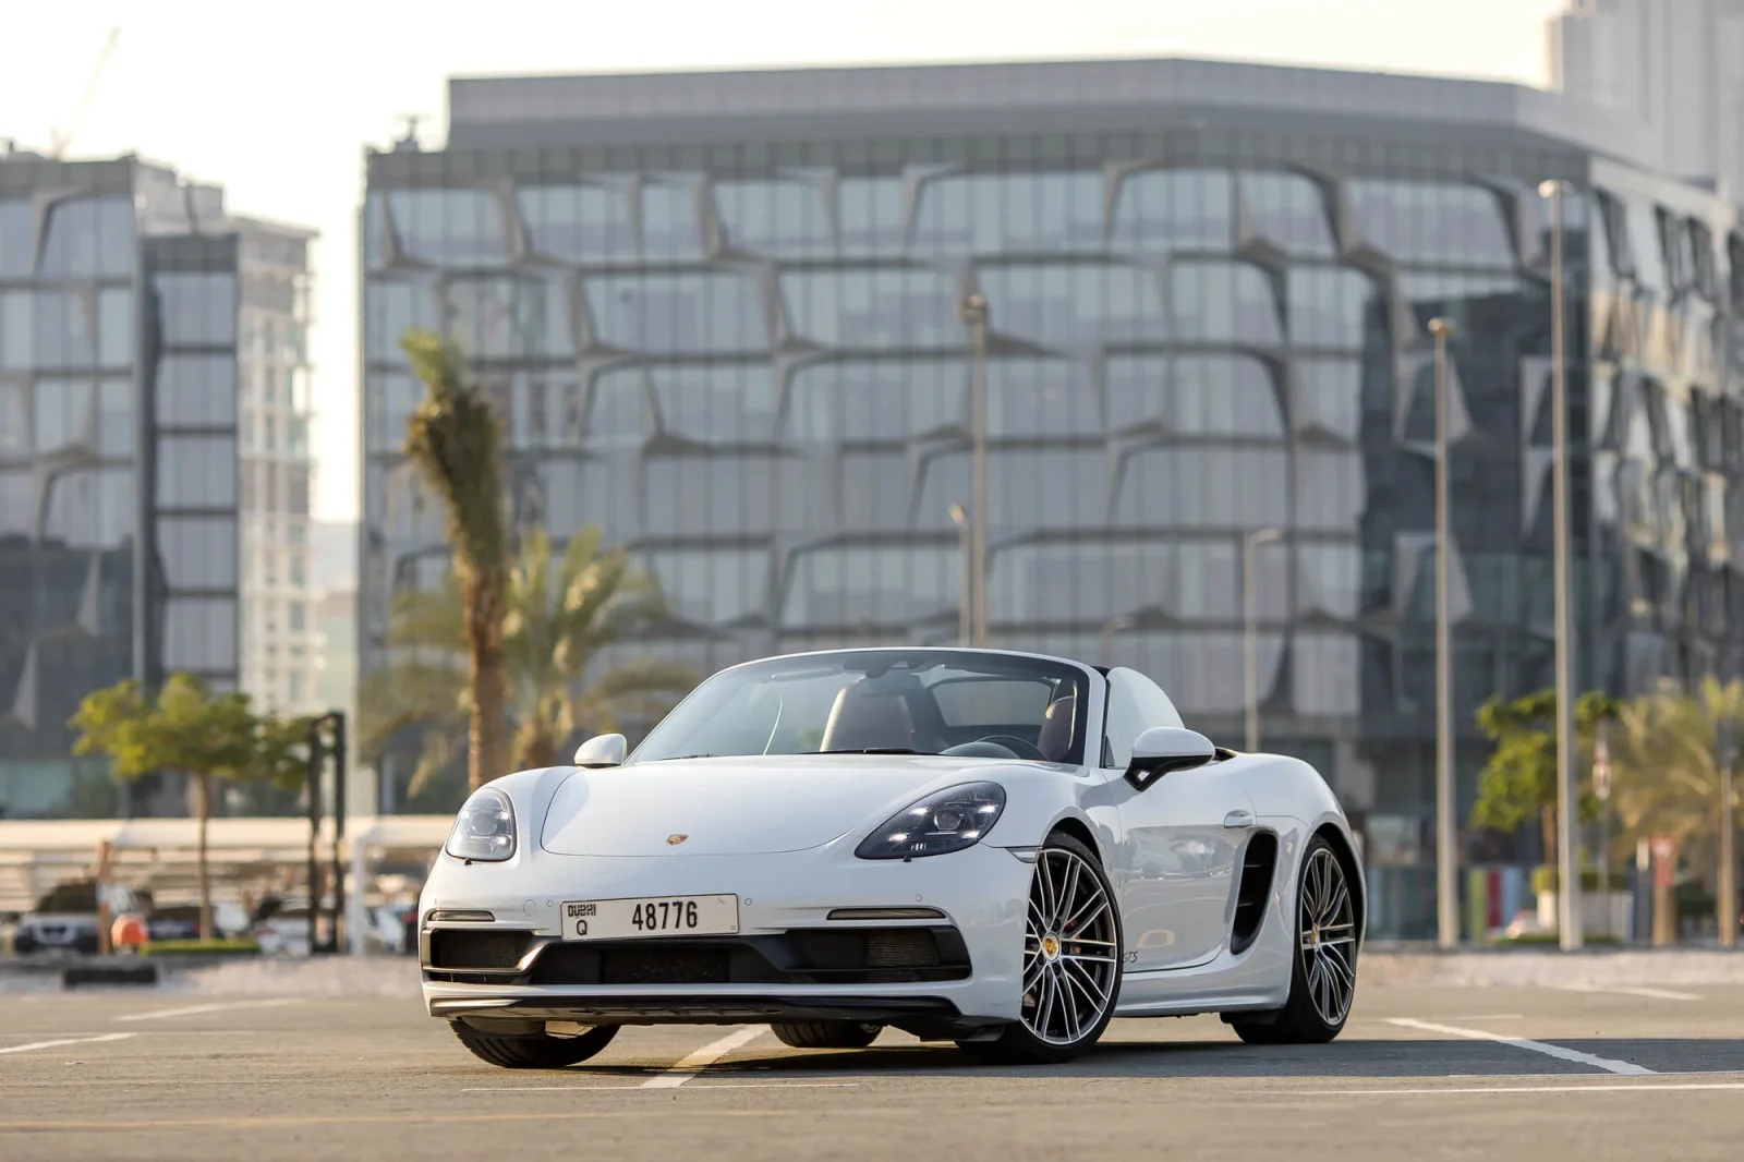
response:
[[[1620,703],[1601,693],[1587,691],[1575,703],[1575,761],[1580,794],[1580,818],[1596,818],[1599,801],[1591,794],[1594,726],[1599,719],[1613,719]],[[1493,830],[1516,830],[1536,820],[1543,829],[1543,855],[1556,864],[1556,689],[1542,689],[1514,701],[1500,694],[1477,712],[1477,726],[1496,743],[1477,776],[1477,803],[1472,808],[1472,825]]]

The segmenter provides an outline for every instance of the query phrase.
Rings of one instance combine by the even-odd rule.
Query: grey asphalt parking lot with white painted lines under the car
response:
[[[628,1029],[562,1073],[415,1000],[0,996],[0,1159],[1735,1159],[1744,988],[1369,986],[1332,1045],[1123,1021],[989,1070],[886,1033]]]

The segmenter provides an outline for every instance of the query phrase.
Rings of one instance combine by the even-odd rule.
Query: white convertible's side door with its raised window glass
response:
[[[1127,972],[1203,965],[1224,947],[1254,803],[1221,764],[1174,771],[1135,790],[1120,778],[1132,743],[1153,726],[1181,726],[1168,696],[1142,673],[1109,672],[1102,766],[1123,843],[1116,892]]]

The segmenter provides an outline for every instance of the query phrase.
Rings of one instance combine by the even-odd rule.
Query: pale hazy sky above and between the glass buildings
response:
[[[403,117],[446,133],[446,79],[1191,56],[1547,84],[1563,0],[7,0],[0,138],[140,154],[227,188],[234,213],[314,227],[310,337],[321,520],[358,516],[356,216],[363,155]]]

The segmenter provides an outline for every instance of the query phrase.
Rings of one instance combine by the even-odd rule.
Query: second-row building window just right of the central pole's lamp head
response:
[[[994,332],[1055,351],[1167,335],[1156,276],[1137,267],[1001,265],[982,270],[980,283]],[[961,323],[954,330],[964,332]]]

